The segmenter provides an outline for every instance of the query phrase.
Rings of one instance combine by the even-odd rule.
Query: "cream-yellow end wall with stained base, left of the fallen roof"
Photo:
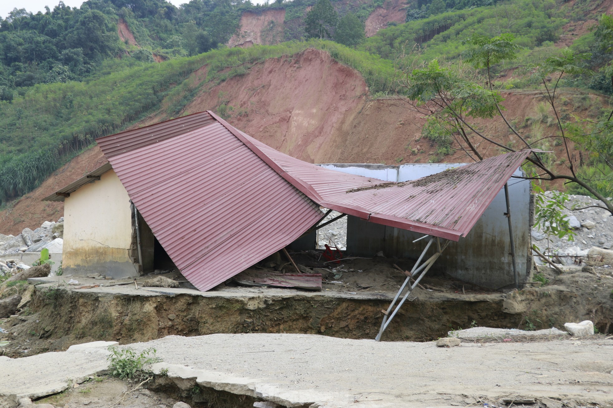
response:
[[[64,253],[67,273],[137,276],[129,258],[132,214],[128,191],[115,171],[83,185],[64,200]]]

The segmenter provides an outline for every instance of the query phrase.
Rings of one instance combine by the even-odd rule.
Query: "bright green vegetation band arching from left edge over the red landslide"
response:
[[[385,92],[392,84],[392,61],[322,40],[223,48],[159,64],[110,59],[85,81],[37,84],[12,102],[0,102],[0,201],[32,190],[65,158],[99,136],[118,132],[151,108],[167,106],[170,116],[178,114],[194,91],[186,78],[204,64],[206,81],[224,81],[256,62],[307,48],[329,51],[337,61],[359,70],[373,92]]]

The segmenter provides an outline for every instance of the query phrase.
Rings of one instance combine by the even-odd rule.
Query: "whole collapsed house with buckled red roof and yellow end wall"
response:
[[[376,240],[386,228],[408,234],[403,240],[413,247],[397,252],[411,257],[414,251],[412,273],[423,276],[450,243],[469,234],[531,154],[522,150],[415,180],[386,181],[290,157],[210,111],[97,143],[109,163],[45,198],[64,201],[63,269],[120,278],[172,261],[201,291],[308,236],[324,217],[320,207],[351,216],[354,231],[365,231],[360,251],[381,245]],[[525,212],[529,191],[526,200]],[[509,218],[497,216],[504,223]],[[483,234],[474,234],[482,254],[509,265],[510,248],[518,258],[508,232],[489,246]],[[529,234],[529,226],[520,232],[527,237],[520,268],[512,262],[516,284],[527,276]],[[369,235],[374,246],[364,244]],[[429,248],[435,254],[424,261]]]

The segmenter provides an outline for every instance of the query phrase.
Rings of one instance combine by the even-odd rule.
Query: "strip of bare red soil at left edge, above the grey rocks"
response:
[[[80,179],[106,161],[97,146],[70,160],[53,172],[39,188],[13,201],[0,212],[0,233],[17,235],[26,227],[35,229],[44,221],[57,221],[64,215],[64,203],[40,200]]]

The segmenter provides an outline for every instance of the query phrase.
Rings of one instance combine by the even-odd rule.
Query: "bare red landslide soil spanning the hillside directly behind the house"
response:
[[[196,70],[189,78],[191,89],[205,80],[207,67]],[[568,101],[560,113],[593,116],[590,109],[604,106],[601,97],[590,94],[585,102],[582,92],[566,90],[560,94]],[[504,92],[503,105],[509,121],[518,126],[526,117],[536,117],[536,105],[543,102],[538,91]],[[579,101],[573,105],[573,100]],[[582,102],[581,102],[582,101]],[[168,103],[134,127],[154,124],[167,116]],[[436,146],[421,139],[424,118],[395,98],[371,100],[364,79],[354,69],[333,60],[325,51],[306,50],[292,57],[267,59],[253,65],[245,75],[234,76],[218,85],[205,84],[181,114],[207,109],[218,111],[228,106],[227,121],[243,132],[293,157],[311,163],[425,163],[435,156]],[[582,105],[581,105],[582,104]],[[583,108],[577,106],[584,106]],[[482,121],[478,126],[502,144],[521,148],[501,121]],[[539,122],[543,134],[555,133],[555,123]],[[522,133],[533,132],[524,127]],[[534,140],[534,139],[533,139]],[[478,143],[474,139],[473,143]],[[500,148],[479,150],[490,157]],[[549,146],[555,160],[565,159],[563,146]],[[581,155],[571,146],[573,160]],[[447,162],[470,161],[458,150],[444,157]],[[41,202],[58,188],[82,177],[104,163],[99,149],[88,150],[57,171],[37,190],[0,212],[0,232],[17,234],[21,229],[36,228],[45,220],[57,220],[63,213],[61,203]],[[563,163],[557,168],[563,169]],[[562,187],[547,185],[547,188]]]

